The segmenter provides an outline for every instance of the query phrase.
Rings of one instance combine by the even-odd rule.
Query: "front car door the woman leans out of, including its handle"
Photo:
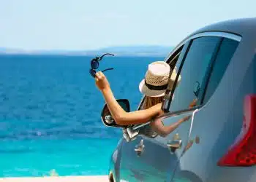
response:
[[[182,60],[189,44],[184,44],[170,55],[171,60]],[[141,106],[143,102],[141,103]],[[144,146],[143,152],[137,149]],[[170,155],[165,138],[151,130],[150,125],[139,127],[139,135],[135,140],[126,142],[121,149],[120,179],[121,181],[166,181],[167,173],[176,167],[178,158]]]

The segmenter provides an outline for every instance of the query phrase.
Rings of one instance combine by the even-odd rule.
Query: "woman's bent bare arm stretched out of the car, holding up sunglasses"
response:
[[[100,71],[96,74],[96,84],[102,92],[108,109],[118,125],[142,124],[148,122],[153,116],[157,116],[161,111],[162,104],[160,103],[146,110],[126,112],[116,101],[108,80]]]

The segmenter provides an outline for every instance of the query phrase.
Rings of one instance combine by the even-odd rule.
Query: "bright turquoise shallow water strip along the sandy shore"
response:
[[[105,175],[117,139],[1,142],[2,176]],[[3,150],[4,149],[4,150]]]

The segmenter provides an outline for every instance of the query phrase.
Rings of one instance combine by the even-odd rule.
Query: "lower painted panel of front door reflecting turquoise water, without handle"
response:
[[[135,147],[143,140],[145,149],[138,157]],[[162,143],[154,142],[155,139],[144,138],[139,135],[134,141],[125,143],[122,148],[120,174],[125,181],[165,181],[166,169],[170,165],[170,153]],[[158,155],[161,154],[161,155]],[[178,162],[178,161],[176,161]],[[176,166],[176,165],[175,165]],[[175,169],[173,166],[173,170]]]

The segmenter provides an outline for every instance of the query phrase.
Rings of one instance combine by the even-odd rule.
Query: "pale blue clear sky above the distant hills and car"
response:
[[[256,17],[255,0],[0,0],[0,47],[176,46],[211,23]]]

